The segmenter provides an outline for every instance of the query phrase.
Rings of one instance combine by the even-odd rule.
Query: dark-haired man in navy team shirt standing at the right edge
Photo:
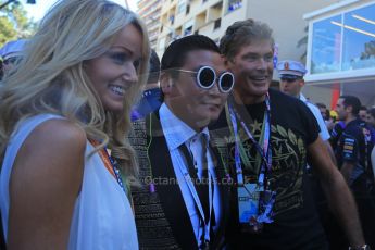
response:
[[[351,188],[359,209],[366,242],[375,248],[374,182],[371,150],[374,147],[367,124],[360,118],[361,101],[353,96],[341,96],[336,104],[338,120],[345,122],[336,158],[338,166]]]

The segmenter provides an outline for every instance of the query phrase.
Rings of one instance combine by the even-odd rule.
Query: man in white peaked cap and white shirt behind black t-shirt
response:
[[[303,76],[308,71],[305,70],[302,63],[291,60],[278,62],[277,71],[280,76],[280,91],[300,99],[308,105],[308,108],[315,116],[317,125],[320,126],[320,136],[325,141],[332,160],[336,163],[334,151],[328,141],[330,137],[329,132],[322,117],[322,114],[318,108],[311,103],[301,92],[302,87],[304,86]]]

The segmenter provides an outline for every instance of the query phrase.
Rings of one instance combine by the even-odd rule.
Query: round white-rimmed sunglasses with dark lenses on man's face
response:
[[[196,74],[197,84],[203,89],[212,88],[216,79],[221,92],[229,92],[235,85],[234,74],[232,74],[230,72],[223,72],[217,78],[215,71],[211,66],[201,66],[198,72],[186,70],[176,71]]]

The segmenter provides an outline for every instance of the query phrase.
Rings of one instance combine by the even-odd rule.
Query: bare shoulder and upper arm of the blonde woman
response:
[[[46,121],[28,135],[10,180],[10,246],[65,246],[83,185],[85,149],[85,130],[67,120]]]

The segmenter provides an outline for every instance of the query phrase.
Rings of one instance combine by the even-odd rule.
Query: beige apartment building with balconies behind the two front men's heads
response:
[[[254,18],[274,29],[279,59],[299,60],[305,47],[298,47],[307,36],[303,14],[337,2],[334,0],[163,0],[161,30],[157,51],[162,54],[171,40],[199,33],[217,41],[236,21]]]

